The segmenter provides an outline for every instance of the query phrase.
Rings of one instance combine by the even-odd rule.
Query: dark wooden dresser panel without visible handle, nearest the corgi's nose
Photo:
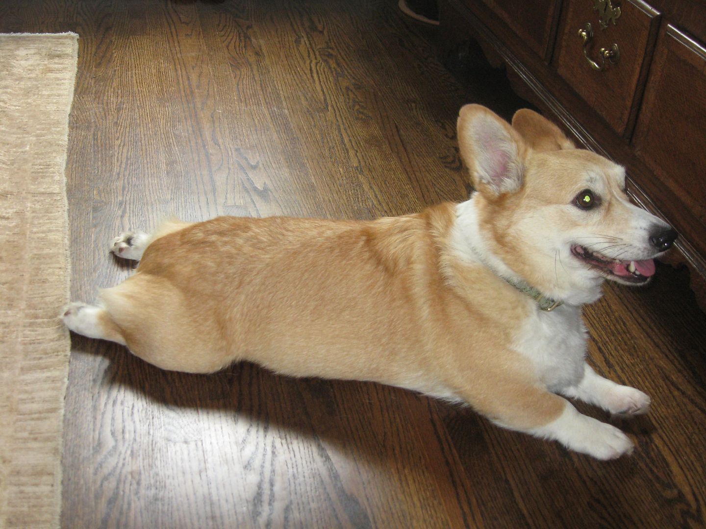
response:
[[[668,25],[654,51],[633,147],[636,156],[681,200],[681,207],[688,207],[706,225],[704,123],[706,49]],[[662,205],[665,212],[679,207]]]

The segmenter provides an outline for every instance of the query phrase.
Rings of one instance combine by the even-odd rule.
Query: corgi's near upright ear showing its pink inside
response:
[[[467,104],[457,127],[461,157],[474,188],[497,197],[522,187],[525,143],[507,121],[478,104]]]

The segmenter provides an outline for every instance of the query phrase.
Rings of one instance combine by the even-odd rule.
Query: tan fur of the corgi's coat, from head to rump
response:
[[[484,252],[546,292],[564,288],[558,271],[538,261],[527,231],[514,226],[546,211],[538,227],[549,220],[570,230],[587,218],[611,229],[630,214],[611,199],[623,193],[613,176],[601,181],[610,202],[602,212],[579,218],[566,207],[585,185],[577,183],[581,171],[611,174],[617,166],[573,149],[531,111],[518,112],[510,127],[487,109],[464,107],[459,142],[479,189],[472,209]],[[500,147],[483,152],[484,145]],[[493,182],[483,175],[498,161],[507,162],[505,174]],[[441,204],[375,221],[168,221],[152,233],[136,274],[102,291],[97,330],[88,317],[72,329],[126,343],[167,370],[208,373],[250,360],[298,377],[372,380],[464,401],[501,425],[597,457],[624,453],[624,443],[594,453],[563,435],[566,424],[581,420],[548,391],[539,360],[517,345],[526,339],[523,322],[544,315],[497,270],[464,257],[459,215],[457,205]],[[561,318],[575,321],[567,336],[581,339],[580,309],[566,309]],[[583,395],[582,357],[577,361],[571,369],[581,375],[571,391]],[[612,384],[592,381],[592,387]],[[556,428],[542,430],[546,425]]]

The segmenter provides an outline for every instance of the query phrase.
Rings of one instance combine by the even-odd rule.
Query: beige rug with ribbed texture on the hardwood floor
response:
[[[0,35],[0,528],[58,527],[78,35]]]

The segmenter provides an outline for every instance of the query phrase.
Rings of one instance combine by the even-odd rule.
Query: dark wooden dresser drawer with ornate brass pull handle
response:
[[[594,4],[605,5],[600,1],[566,2],[556,69],[611,128],[627,136],[649,68],[659,13],[640,0],[615,1],[612,7],[619,7],[620,14],[610,20],[602,17]],[[579,34],[580,30],[586,37]],[[618,55],[604,59],[601,49],[617,50]]]

